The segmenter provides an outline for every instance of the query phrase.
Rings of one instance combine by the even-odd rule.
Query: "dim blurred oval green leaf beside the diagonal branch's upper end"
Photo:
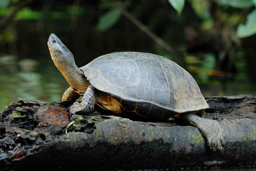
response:
[[[111,28],[119,20],[121,14],[122,12],[119,9],[108,11],[99,19],[97,29],[100,31],[106,31]]]

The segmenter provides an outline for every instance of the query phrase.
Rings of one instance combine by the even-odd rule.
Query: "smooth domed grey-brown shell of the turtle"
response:
[[[208,108],[195,79],[175,62],[143,52],[114,52],[81,67],[97,90],[118,99],[127,111],[169,118]]]

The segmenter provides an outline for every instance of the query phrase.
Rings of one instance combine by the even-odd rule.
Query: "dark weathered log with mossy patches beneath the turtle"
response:
[[[113,116],[69,117],[69,103],[18,98],[0,113],[0,170],[138,170],[256,167],[256,96],[206,97],[206,118],[226,135],[211,151],[198,128]],[[108,114],[108,115],[106,115]]]

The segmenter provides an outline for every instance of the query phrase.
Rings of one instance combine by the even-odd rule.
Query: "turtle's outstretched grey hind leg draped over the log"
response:
[[[224,132],[218,121],[212,119],[201,118],[195,114],[180,115],[186,122],[199,128],[202,134],[207,139],[207,145],[210,146],[212,151],[221,150],[225,144]]]

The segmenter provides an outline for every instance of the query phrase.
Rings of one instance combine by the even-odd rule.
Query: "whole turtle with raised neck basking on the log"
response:
[[[113,52],[78,68],[73,54],[55,34],[47,45],[52,61],[70,84],[62,96],[62,101],[75,101],[70,115],[90,113],[97,104],[112,113],[179,117],[201,130],[212,151],[223,148],[221,125],[201,117],[209,105],[192,75],[175,62],[144,52]],[[80,96],[81,103],[76,101]]]

